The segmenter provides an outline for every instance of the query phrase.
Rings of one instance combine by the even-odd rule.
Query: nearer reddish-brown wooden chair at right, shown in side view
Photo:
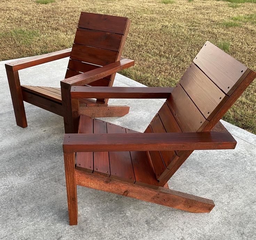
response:
[[[77,185],[193,213],[209,199],[168,188],[193,150],[234,149],[219,122],[256,73],[206,42],[175,88],[71,88],[78,134],[63,142],[70,225],[77,224]],[[80,115],[79,98],[166,98],[144,133]]]

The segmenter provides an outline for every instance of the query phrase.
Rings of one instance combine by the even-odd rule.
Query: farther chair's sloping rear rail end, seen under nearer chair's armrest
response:
[[[80,113],[90,117],[122,117],[129,113],[129,106],[80,107]]]

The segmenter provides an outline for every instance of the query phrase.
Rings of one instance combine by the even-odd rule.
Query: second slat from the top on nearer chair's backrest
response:
[[[183,89],[207,120],[210,120],[214,116],[228,98],[193,63],[182,76],[179,84],[182,85]]]

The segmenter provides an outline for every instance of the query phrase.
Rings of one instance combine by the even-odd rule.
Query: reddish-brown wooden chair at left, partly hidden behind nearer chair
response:
[[[66,133],[73,129],[71,86],[112,86],[115,73],[134,65],[121,59],[130,27],[126,17],[81,13],[73,47],[7,63],[6,72],[13,101],[16,123],[27,127],[23,101],[64,117]],[[70,57],[61,88],[20,84],[18,70]],[[93,117],[124,116],[128,106],[108,106],[108,99],[80,99],[81,112]]]

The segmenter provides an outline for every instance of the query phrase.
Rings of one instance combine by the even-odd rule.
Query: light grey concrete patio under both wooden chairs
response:
[[[28,127],[16,126],[0,62],[0,239],[255,239],[256,135],[222,121],[235,150],[194,151],[170,189],[213,199],[193,214],[78,187],[78,225],[69,226],[63,164],[63,119],[25,103]],[[22,84],[59,87],[68,59],[20,71]],[[117,75],[114,86],[143,86]],[[163,100],[119,99],[130,113],[107,121],[143,132]]]

